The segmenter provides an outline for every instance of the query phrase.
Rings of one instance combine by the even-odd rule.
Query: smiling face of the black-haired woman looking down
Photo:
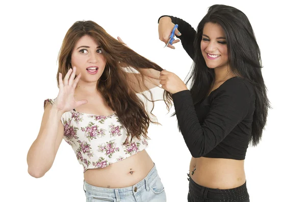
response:
[[[228,64],[225,34],[219,24],[207,22],[203,27],[201,51],[209,68],[226,68]]]

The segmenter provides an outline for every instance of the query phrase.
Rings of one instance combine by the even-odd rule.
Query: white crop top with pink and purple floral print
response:
[[[54,104],[54,100],[46,99],[44,106],[46,102]],[[148,146],[143,136],[140,140],[133,138],[132,143],[127,141],[123,144],[127,132],[116,113],[105,117],[71,110],[63,114],[61,122],[64,126],[63,139],[72,147],[84,172],[121,161]]]

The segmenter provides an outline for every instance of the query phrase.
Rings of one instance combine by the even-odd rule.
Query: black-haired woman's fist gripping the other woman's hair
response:
[[[172,72],[166,70],[161,71],[159,79],[161,80],[160,84],[162,84],[162,88],[171,94],[188,90],[181,78]]]

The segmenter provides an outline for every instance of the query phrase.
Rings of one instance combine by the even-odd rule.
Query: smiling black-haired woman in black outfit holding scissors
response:
[[[192,155],[188,201],[249,201],[244,159],[248,145],[261,140],[270,107],[252,26],[240,10],[213,5],[197,32],[180,18],[161,16],[160,40],[168,42],[174,24],[193,60],[191,89],[166,70],[160,83],[172,94]]]

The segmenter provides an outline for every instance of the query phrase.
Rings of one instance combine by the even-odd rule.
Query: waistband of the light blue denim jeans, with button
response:
[[[124,188],[104,188],[104,187],[96,187],[88,184],[84,181],[84,186],[86,192],[90,195],[99,195],[99,196],[105,196],[105,197],[111,197],[111,198],[123,198],[127,196],[132,195],[138,195],[143,190],[149,191],[148,184],[154,180],[156,177],[158,177],[158,172],[156,169],[156,165],[152,167],[152,169],[149,171],[148,175],[138,182],[137,184],[130,186],[130,187],[124,187]]]

